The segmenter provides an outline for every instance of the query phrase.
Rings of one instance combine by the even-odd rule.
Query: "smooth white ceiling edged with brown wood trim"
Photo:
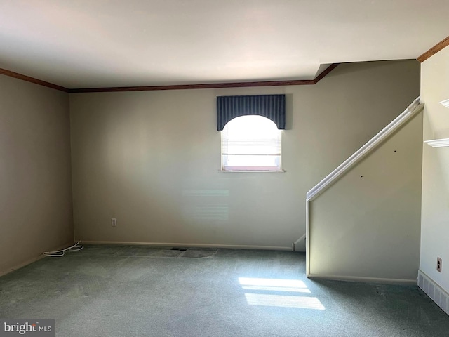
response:
[[[0,0],[0,67],[66,88],[314,79],[417,58],[448,36],[448,13],[449,0]]]

